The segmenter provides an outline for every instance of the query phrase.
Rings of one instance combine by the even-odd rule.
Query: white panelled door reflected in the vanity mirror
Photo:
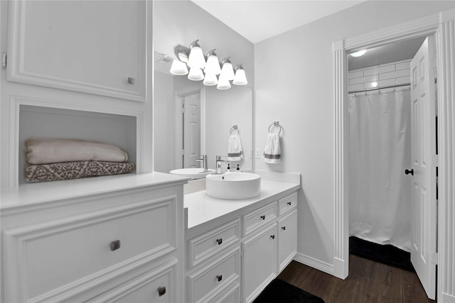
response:
[[[200,92],[183,101],[183,168],[199,167],[200,158]]]

